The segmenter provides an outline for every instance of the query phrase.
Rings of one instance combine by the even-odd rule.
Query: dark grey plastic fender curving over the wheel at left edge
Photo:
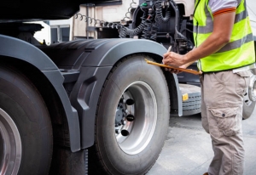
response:
[[[70,133],[71,150],[80,150],[80,130],[79,117],[70,100],[67,97],[65,88],[63,88],[64,77],[61,75],[58,67],[52,62],[49,57],[38,48],[32,46],[28,42],[21,41],[14,37],[0,35],[0,55],[21,59],[30,63],[44,73],[58,93],[63,108],[67,115],[67,122]]]

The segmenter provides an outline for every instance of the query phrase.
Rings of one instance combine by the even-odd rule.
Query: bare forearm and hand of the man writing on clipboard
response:
[[[163,64],[174,66],[188,66],[195,60],[216,53],[230,42],[236,12],[219,14],[213,19],[213,31],[205,42],[188,54],[180,55],[173,52],[164,54]]]

